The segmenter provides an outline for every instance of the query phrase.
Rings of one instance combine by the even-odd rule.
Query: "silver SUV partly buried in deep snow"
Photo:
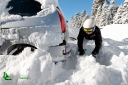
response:
[[[41,8],[41,4],[35,0],[11,0],[6,5],[6,9],[9,9],[10,16],[19,15],[20,19],[1,21],[0,35],[3,39],[0,46],[1,54],[17,55],[26,47],[34,51],[38,47],[34,42],[30,42],[28,37],[33,32],[52,31],[59,33],[62,38],[62,42],[58,45],[49,46],[48,52],[55,57],[53,61],[70,56],[69,45],[67,45],[67,24],[59,6],[54,1],[52,5]]]

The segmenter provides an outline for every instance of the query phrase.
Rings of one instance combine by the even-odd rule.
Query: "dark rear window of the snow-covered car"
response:
[[[33,16],[41,11],[41,4],[35,0],[11,0],[6,8],[12,8],[8,12],[10,14],[18,14],[21,16]]]

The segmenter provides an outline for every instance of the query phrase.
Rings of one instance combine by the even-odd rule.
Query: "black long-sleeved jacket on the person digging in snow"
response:
[[[92,54],[94,53],[98,54],[101,48],[101,45],[102,45],[102,36],[101,36],[100,29],[97,26],[95,26],[95,31],[92,34],[88,35],[83,31],[83,27],[80,28],[80,31],[77,37],[77,40],[78,40],[77,45],[78,45],[79,51],[83,50],[83,39],[84,38],[86,38],[87,40],[95,41],[95,48],[92,51]]]

